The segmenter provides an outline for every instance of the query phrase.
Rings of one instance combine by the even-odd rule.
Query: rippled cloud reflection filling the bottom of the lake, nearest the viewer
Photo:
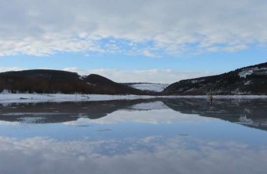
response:
[[[3,174],[265,173],[267,148],[191,136],[57,142],[0,137]]]

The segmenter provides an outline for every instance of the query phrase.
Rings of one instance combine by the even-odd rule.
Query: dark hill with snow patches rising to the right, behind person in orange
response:
[[[216,76],[181,80],[163,92],[175,95],[267,95],[267,62]]]

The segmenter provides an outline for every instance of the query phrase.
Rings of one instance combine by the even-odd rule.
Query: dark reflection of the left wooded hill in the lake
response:
[[[0,106],[0,120],[10,122],[57,123],[74,121],[79,117],[98,119],[117,110],[139,110],[132,106],[150,103],[151,100],[112,100],[63,103],[13,103]],[[149,104],[147,106],[150,106]],[[143,107],[142,109],[146,109]],[[151,108],[149,108],[151,109]]]

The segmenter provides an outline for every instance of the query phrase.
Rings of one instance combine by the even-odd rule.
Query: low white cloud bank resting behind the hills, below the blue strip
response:
[[[141,70],[122,71],[116,69],[95,69],[83,70],[75,67],[64,68],[64,71],[77,72],[80,75],[98,74],[118,83],[162,83],[172,84],[184,79],[192,79],[204,76],[216,75],[219,73],[208,71],[174,71],[174,70]]]

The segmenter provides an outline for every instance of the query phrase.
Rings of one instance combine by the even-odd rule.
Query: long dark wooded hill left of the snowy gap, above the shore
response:
[[[24,70],[0,73],[0,91],[13,93],[87,93],[87,94],[145,94],[105,77],[59,70]]]

